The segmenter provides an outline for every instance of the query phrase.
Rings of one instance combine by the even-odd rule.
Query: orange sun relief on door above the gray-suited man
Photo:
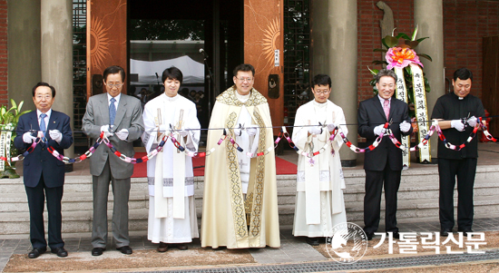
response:
[[[111,54],[109,54],[110,39],[107,37],[107,32],[104,29],[103,22],[98,18],[93,17],[91,25],[90,58],[93,67],[102,67],[104,65],[106,55],[112,57]]]

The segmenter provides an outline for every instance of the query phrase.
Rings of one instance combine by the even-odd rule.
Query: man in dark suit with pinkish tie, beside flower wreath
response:
[[[406,102],[392,98],[396,88],[396,73],[383,69],[376,76],[377,96],[360,102],[358,105],[358,134],[372,144],[378,135],[385,133],[383,126],[391,122],[390,129],[396,139],[412,132],[409,110]],[[402,171],[402,151],[385,136],[373,151],[366,152],[366,196],[364,197],[364,231],[367,239],[372,239],[379,226],[381,191],[385,186],[386,232],[393,232],[398,239],[396,228],[396,194],[400,186]]]

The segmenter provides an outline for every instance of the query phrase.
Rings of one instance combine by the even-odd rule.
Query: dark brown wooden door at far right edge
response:
[[[484,37],[482,102],[491,116],[499,115],[499,36]],[[499,136],[499,118],[491,119],[489,132]]]

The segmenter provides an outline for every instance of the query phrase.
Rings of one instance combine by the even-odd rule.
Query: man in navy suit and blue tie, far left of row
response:
[[[30,147],[37,132],[42,141],[24,159],[24,189],[28,198],[30,214],[30,239],[33,250],[29,258],[37,258],[47,249],[44,231],[44,199],[48,210],[48,246],[52,253],[67,257],[61,235],[61,200],[64,187],[64,162],[57,160],[49,151],[49,146],[60,154],[73,144],[70,118],[63,112],[52,110],[55,99],[54,86],[37,83],[33,88],[33,102],[36,111],[27,112],[19,118],[15,148],[25,150]]]

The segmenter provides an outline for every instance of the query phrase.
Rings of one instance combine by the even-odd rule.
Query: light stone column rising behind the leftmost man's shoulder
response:
[[[53,109],[70,116],[73,129],[72,12],[71,0],[42,1],[42,81],[55,87]],[[65,155],[73,157],[73,146],[65,151]]]

